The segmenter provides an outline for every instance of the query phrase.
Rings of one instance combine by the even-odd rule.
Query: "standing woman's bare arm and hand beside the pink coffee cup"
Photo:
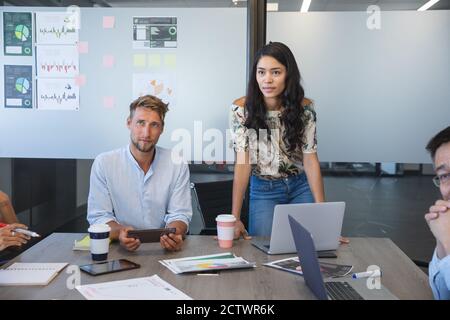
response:
[[[247,191],[251,170],[252,166],[250,164],[249,152],[237,152],[236,163],[234,165],[233,198],[231,205],[231,213],[236,217],[236,226],[234,229],[235,239],[239,239],[241,236],[246,240],[251,239],[241,221],[242,203],[245,192]]]

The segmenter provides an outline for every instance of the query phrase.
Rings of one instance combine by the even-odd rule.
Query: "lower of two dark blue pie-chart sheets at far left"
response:
[[[32,108],[32,67],[5,65],[5,107]]]

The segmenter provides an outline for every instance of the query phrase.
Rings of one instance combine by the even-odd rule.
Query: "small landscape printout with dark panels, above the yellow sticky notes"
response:
[[[176,17],[133,17],[133,49],[176,47]]]

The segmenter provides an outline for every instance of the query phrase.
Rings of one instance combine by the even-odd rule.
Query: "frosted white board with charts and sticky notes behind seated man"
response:
[[[2,7],[0,10],[34,13],[64,8]],[[132,26],[136,16],[176,17],[176,48],[133,49]],[[103,17],[114,17],[113,28],[104,28]],[[3,14],[0,15],[1,34],[2,19]],[[36,50],[33,48],[31,57],[11,57],[4,55],[2,47],[0,157],[93,159],[101,152],[126,145],[133,75],[148,73],[170,78],[176,90],[160,146],[177,145],[180,140],[172,139],[177,129],[185,129],[193,139],[196,121],[201,121],[200,140],[208,129],[225,136],[229,106],[245,94],[245,8],[81,8],[79,40],[88,43],[88,52],[80,53],[80,73],[86,83],[80,87],[78,111],[4,108],[3,66],[32,65],[35,74]],[[146,55],[146,67],[136,67],[135,54]],[[161,59],[174,55],[176,63],[155,67],[148,62],[150,54],[161,55]],[[113,56],[112,67],[104,67],[105,56]],[[195,152],[192,146],[188,160],[208,160],[202,157],[207,145],[205,141],[203,146],[197,146],[200,152]],[[222,147],[227,147],[225,142]],[[222,154],[225,158],[227,153]]]

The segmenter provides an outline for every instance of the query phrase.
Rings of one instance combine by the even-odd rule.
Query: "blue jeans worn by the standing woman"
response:
[[[314,202],[314,196],[305,173],[278,180],[264,180],[251,176],[250,235],[270,237],[275,205],[312,202]]]

